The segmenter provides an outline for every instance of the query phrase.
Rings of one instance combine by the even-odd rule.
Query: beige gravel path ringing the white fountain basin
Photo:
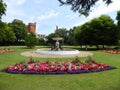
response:
[[[44,54],[37,54],[35,53],[35,51],[28,51],[28,52],[22,52],[21,55],[27,57],[41,57],[41,58],[74,58],[75,56],[87,57],[87,56],[92,56],[93,54],[90,52],[80,51],[80,53],[76,55],[44,55]]]

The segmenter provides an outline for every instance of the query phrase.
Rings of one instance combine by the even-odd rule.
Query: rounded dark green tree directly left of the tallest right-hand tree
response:
[[[92,45],[93,41],[90,40],[93,39],[93,32],[90,28],[90,22],[86,22],[85,24],[76,27],[75,29],[75,38],[77,40],[77,43],[79,45],[85,45],[87,48],[87,45]]]

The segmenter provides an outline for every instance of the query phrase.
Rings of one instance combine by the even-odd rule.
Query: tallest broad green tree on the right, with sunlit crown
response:
[[[94,44],[115,45],[117,43],[117,30],[114,21],[107,15],[102,15],[91,21],[91,28],[94,32]],[[112,37],[111,37],[112,36]]]

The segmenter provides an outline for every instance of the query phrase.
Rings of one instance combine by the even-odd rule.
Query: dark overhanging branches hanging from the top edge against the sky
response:
[[[99,0],[58,0],[62,5],[70,5],[71,10],[80,14],[88,16],[91,7],[94,6]],[[107,5],[109,5],[112,0],[103,0]]]

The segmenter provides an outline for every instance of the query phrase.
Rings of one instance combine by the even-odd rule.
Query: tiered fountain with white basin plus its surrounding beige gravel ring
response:
[[[57,29],[58,27],[56,27],[56,30]],[[60,41],[63,40],[62,37],[56,36],[52,39],[56,42],[51,48],[37,49],[34,52],[23,52],[22,55],[32,56],[32,57],[44,57],[44,58],[46,57],[61,58],[61,57],[75,57],[75,56],[84,57],[84,56],[92,55],[89,52],[81,52],[76,49],[63,48],[63,46],[61,46],[60,43]]]

